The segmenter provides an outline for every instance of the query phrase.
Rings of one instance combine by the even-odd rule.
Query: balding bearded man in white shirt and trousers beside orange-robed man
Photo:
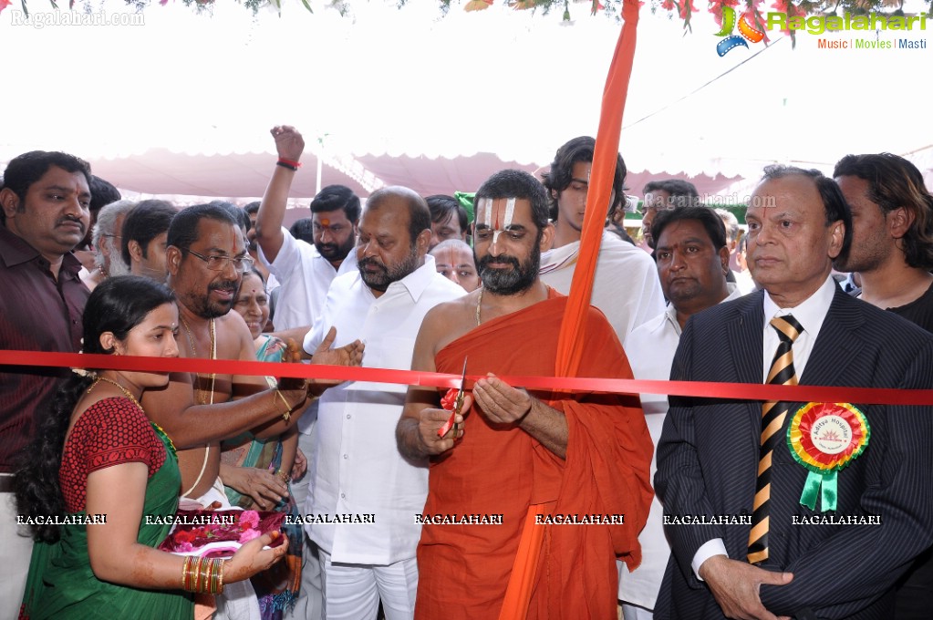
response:
[[[304,349],[314,351],[332,325],[341,341],[366,342],[363,365],[408,370],[425,313],[464,290],[426,255],[430,213],[411,189],[373,193],[358,233],[358,270],[331,284]],[[395,428],[407,390],[355,381],[319,402],[305,503],[314,517],[305,529],[319,547],[328,618],[375,618],[380,599],[388,620],[414,613],[421,526],[413,516],[425,506],[427,461],[398,451]]]

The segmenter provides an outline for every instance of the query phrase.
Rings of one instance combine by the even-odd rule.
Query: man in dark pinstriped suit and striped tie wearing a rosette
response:
[[[831,179],[770,167],[745,219],[762,290],[692,316],[671,379],[931,387],[933,337],[829,275],[852,236]],[[655,488],[673,555],[655,616],[888,617],[933,544],[930,413],[672,397]]]

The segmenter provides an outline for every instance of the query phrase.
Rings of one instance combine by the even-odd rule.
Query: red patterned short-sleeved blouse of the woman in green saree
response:
[[[65,507],[69,513],[85,509],[91,472],[145,462],[151,477],[165,459],[165,446],[142,409],[129,398],[104,398],[81,414],[65,441],[59,470]]]

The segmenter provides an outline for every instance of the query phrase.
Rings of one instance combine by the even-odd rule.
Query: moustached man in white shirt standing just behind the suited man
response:
[[[635,379],[667,380],[687,319],[741,294],[734,284],[726,282],[729,269],[726,229],[712,210],[685,207],[661,211],[652,224],[661,290],[671,305],[648,323],[634,328],[625,339],[625,354]],[[667,414],[667,397],[646,393],[641,394],[641,401],[651,441],[657,445]],[[656,469],[652,459],[651,475]],[[642,545],[641,566],[629,572],[625,563],[619,562],[619,599],[625,620],[652,617],[664,567],[671,555],[661,527],[661,512],[661,503],[655,498],[648,524],[638,536]]]

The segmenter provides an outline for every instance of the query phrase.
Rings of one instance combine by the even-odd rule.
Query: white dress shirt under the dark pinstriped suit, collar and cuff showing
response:
[[[794,344],[790,347],[794,360],[794,373],[800,379],[803,375],[803,368],[807,365],[807,360],[810,359],[810,353],[814,350],[819,330],[826,320],[827,313],[829,313],[829,306],[832,304],[833,296],[836,295],[836,288],[836,281],[830,275],[826,282],[823,282],[823,285],[816,289],[813,295],[804,299],[796,308],[781,308],[774,303],[767,292],[765,293],[762,304],[764,307],[762,383],[768,380],[768,371],[771,370],[774,351],[777,351],[777,345],[781,341],[777,332],[771,326],[771,320],[775,316],[793,314],[794,319],[803,327],[801,335],[794,340]],[[693,573],[697,576],[697,579],[700,579],[700,567],[703,566],[703,562],[713,556],[729,556],[726,545],[722,543],[721,538],[714,538],[701,544],[693,555]],[[741,559],[744,560],[745,558]]]

